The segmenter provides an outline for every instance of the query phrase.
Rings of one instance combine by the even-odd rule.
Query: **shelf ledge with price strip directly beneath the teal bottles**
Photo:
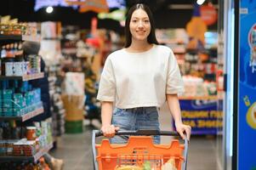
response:
[[[40,115],[42,113],[43,113],[43,107],[40,107],[37,110],[28,112],[23,116],[0,116],[0,120],[17,120],[17,121],[25,122],[31,119],[32,117]]]

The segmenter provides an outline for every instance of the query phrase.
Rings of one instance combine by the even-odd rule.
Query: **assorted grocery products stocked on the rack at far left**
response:
[[[31,48],[31,44],[28,48],[32,52],[26,54],[28,51],[23,42],[37,43],[39,40],[36,23],[18,23],[17,20],[10,20],[9,16],[1,18],[1,169],[40,169],[43,161],[38,162],[39,158],[53,147],[51,119],[26,127],[27,120],[44,113],[41,88],[28,82],[44,78],[41,56],[37,55],[35,47]]]

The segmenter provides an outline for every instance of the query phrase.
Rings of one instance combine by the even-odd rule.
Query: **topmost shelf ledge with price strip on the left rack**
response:
[[[26,35],[0,35],[0,41],[29,41],[40,42],[40,36],[26,36]]]

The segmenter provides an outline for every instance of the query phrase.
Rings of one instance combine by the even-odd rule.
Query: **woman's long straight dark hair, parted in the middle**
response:
[[[156,40],[156,33],[155,33],[156,28],[155,28],[155,23],[153,20],[153,14],[151,12],[151,9],[143,3],[138,3],[129,9],[126,20],[125,20],[125,30],[124,30],[125,31],[125,39],[126,39],[125,45],[124,45],[125,48],[128,48],[132,43],[132,34],[130,31],[130,21],[132,18],[132,14],[134,13],[134,10],[139,9],[139,8],[145,10],[145,13],[149,16],[149,19],[151,22],[151,33],[147,37],[147,42],[158,44],[158,42]]]

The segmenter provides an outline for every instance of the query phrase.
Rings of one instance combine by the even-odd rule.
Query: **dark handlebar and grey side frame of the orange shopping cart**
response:
[[[115,133],[115,135],[144,135],[144,136],[150,136],[150,135],[161,135],[161,136],[179,136],[179,133],[174,132],[174,131],[159,131],[159,130],[136,130],[136,131],[117,131]],[[93,149],[93,157],[94,157],[94,170],[98,170],[98,164],[96,161],[96,149],[95,149],[95,139],[96,137],[100,137],[103,136],[102,131],[99,130],[93,130],[93,136],[92,136],[92,149]],[[184,144],[185,144],[185,150],[184,150],[184,156],[185,156],[185,160],[183,163],[183,167],[182,169],[185,170],[186,169],[186,165],[187,165],[187,156],[188,156],[188,139],[186,139],[185,136],[185,140],[184,140]]]

